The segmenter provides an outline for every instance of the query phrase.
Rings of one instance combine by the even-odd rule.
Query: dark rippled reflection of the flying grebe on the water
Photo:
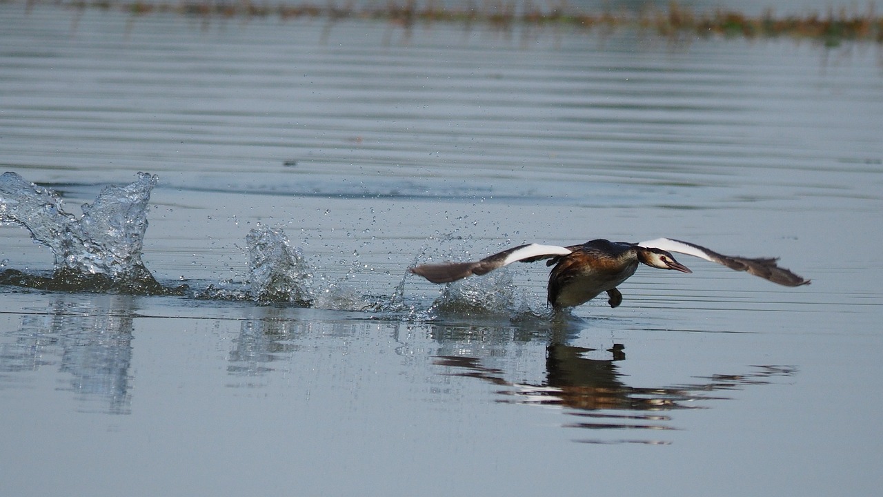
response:
[[[585,356],[592,348],[572,347],[552,343],[547,347],[546,378],[537,384],[513,383],[505,379],[506,372],[486,367],[475,357],[439,356],[436,363],[459,370],[453,374],[482,380],[510,389],[500,392],[505,401],[554,405],[569,408],[577,421],[569,427],[617,430],[674,430],[666,414],[675,409],[698,409],[695,401],[721,400],[727,397],[713,395],[721,390],[739,389],[748,385],[766,385],[767,378],[790,376],[790,366],[755,366],[756,370],[740,375],[713,375],[700,378],[697,383],[677,386],[629,386],[616,362],[625,354],[621,344],[608,349],[609,359],[591,359]],[[645,443],[667,444],[663,440],[579,440],[585,443]]]

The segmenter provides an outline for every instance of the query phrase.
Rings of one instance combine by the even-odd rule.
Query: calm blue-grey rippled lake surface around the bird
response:
[[[181,296],[0,287],[10,495],[872,495],[883,54],[630,30],[0,4],[0,161],[68,210],[159,176]],[[239,298],[281,229],[312,307]],[[412,264],[669,236],[550,317],[547,268]],[[51,271],[0,228],[4,268]]]

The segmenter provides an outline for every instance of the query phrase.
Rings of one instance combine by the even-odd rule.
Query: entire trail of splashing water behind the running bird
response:
[[[147,202],[158,179],[140,172],[124,187],[105,187],[80,218],[64,210],[56,192],[23,180],[15,172],[0,175],[0,225],[24,226],[35,242],[55,256],[51,277],[14,269],[0,271],[0,284],[67,292],[111,291],[127,294],[183,295],[188,287],[163,287],[141,262],[147,231]],[[283,302],[327,310],[355,310],[397,315],[407,320],[494,318],[531,309],[524,294],[514,290],[509,271],[445,287],[426,309],[405,302],[405,273],[392,295],[363,294],[349,281],[331,281],[313,271],[300,249],[292,247],[281,229],[259,226],[245,237],[249,258],[247,290],[214,285],[197,298]],[[416,264],[416,260],[415,260]],[[7,261],[0,262],[0,269]],[[356,267],[357,264],[354,264]],[[351,277],[347,273],[347,277]]]

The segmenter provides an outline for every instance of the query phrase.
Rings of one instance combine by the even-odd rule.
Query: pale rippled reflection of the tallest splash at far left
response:
[[[42,314],[28,314],[19,330],[0,343],[0,373],[58,366],[70,375],[64,390],[74,392],[90,410],[101,401],[110,414],[130,414],[132,396],[132,297],[59,295]],[[11,378],[14,379],[14,378]]]

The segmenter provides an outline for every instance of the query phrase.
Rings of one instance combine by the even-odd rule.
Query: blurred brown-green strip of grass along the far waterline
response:
[[[28,7],[42,4],[40,0],[27,0]],[[647,6],[638,11],[615,9],[587,12],[564,2],[545,6],[530,1],[483,0],[464,7],[447,7],[426,0],[389,0],[384,4],[353,2],[338,5],[326,4],[253,3],[247,0],[162,2],[150,0],[71,0],[51,2],[76,9],[117,9],[132,15],[148,15],[155,12],[173,12],[185,16],[212,18],[271,17],[279,19],[374,19],[404,27],[415,23],[462,23],[485,24],[508,29],[523,26],[567,26],[580,29],[638,28],[664,36],[728,36],[746,38],[792,37],[819,40],[826,44],[843,41],[883,42],[883,16],[878,15],[873,4],[864,13],[856,9],[829,9],[825,12],[811,11],[803,15],[776,16],[768,9],[760,16],[748,16],[738,11],[715,10],[697,12],[675,2],[667,9]]]

